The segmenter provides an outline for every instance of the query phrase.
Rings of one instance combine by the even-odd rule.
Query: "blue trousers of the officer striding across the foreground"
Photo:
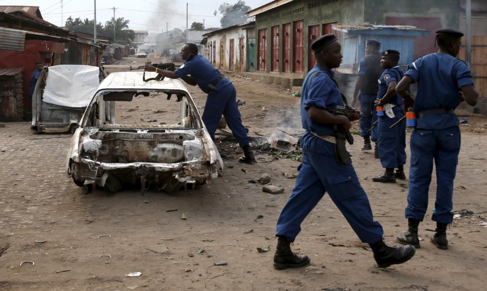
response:
[[[306,136],[308,135],[308,136]],[[301,223],[318,204],[325,192],[341,211],[353,231],[362,242],[376,243],[382,239],[384,231],[379,222],[374,221],[369,199],[358,182],[352,164],[336,163],[333,144],[316,136],[303,136],[303,162],[296,185],[279,216],[276,236],[284,236],[294,242],[301,231]],[[303,144],[307,143],[308,147]],[[320,153],[307,148],[319,149]]]

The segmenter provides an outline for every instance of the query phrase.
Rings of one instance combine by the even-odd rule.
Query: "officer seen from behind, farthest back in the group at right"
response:
[[[377,129],[371,130],[372,124],[377,120],[377,112],[374,102],[377,98],[378,84],[377,80],[384,69],[381,67],[381,43],[376,40],[368,40],[366,43],[366,56],[360,60],[357,72],[357,81],[351,106],[355,107],[356,100],[360,105],[362,117],[358,121],[360,125],[360,136],[363,137],[362,151],[372,150],[372,141],[376,142],[374,149],[375,158],[379,159],[377,147]],[[360,91],[360,94],[358,92]],[[357,98],[358,95],[358,98]]]

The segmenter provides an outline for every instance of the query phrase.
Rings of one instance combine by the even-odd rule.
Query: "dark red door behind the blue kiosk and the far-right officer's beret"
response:
[[[438,50],[435,49],[435,37],[436,30],[441,28],[439,17],[386,17],[386,25],[410,25],[430,32],[429,36],[417,37],[414,41],[415,59]]]

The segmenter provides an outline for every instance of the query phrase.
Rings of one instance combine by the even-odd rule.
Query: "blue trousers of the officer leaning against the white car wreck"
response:
[[[221,115],[225,117],[226,124],[230,128],[233,136],[241,146],[249,144],[250,138],[247,130],[243,127],[240,111],[236,103],[236,90],[233,84],[228,84],[218,91],[208,94],[203,111],[203,122],[211,135],[215,139],[215,131],[218,128]]]

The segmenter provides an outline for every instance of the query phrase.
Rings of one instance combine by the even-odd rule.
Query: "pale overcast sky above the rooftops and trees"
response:
[[[188,4],[188,28],[193,22],[201,22],[206,28],[220,27],[221,15],[213,15],[220,4],[230,5],[238,0],[228,1],[168,1],[168,0],[0,0],[0,6],[39,6],[44,20],[57,26],[64,26],[66,19],[93,19],[96,2],[96,22],[104,26],[113,17],[130,20],[130,29],[149,32],[169,31],[175,27],[186,29],[186,3]],[[63,3],[61,14],[61,2]],[[247,6],[256,9],[272,0],[245,0]],[[61,19],[62,15],[62,19]]]

